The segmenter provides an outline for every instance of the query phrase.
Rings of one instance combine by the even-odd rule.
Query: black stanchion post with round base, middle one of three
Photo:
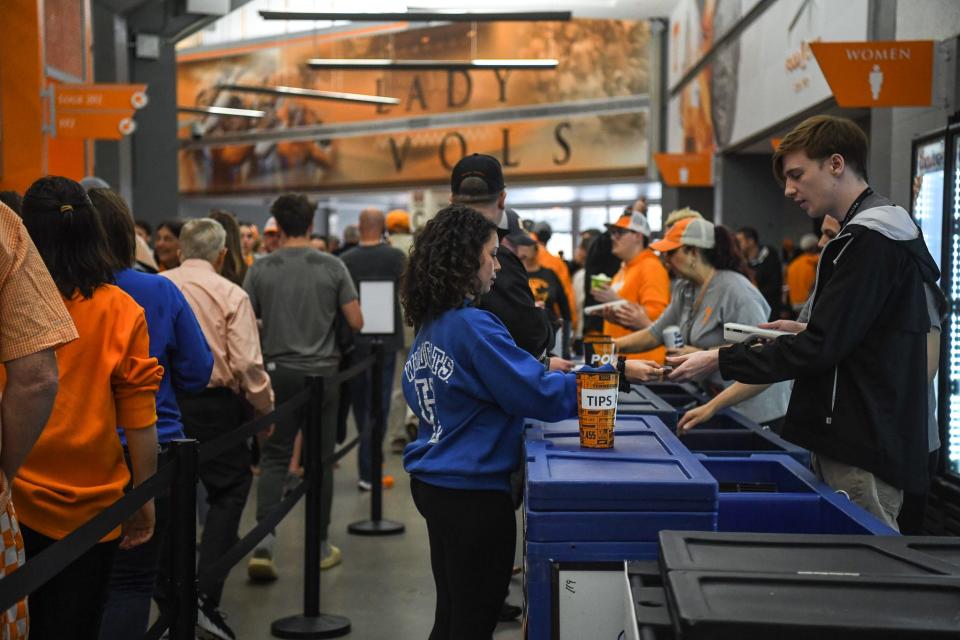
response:
[[[277,638],[338,638],[350,633],[350,619],[320,612],[320,484],[323,474],[323,398],[325,383],[309,376],[312,387],[303,426],[304,477],[307,482],[303,540],[303,615],[274,620],[270,633]]]

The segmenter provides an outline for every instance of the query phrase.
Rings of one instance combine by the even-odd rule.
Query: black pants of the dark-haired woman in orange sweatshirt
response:
[[[27,562],[57,540],[20,524]],[[30,594],[31,640],[96,640],[119,540],[95,544]]]

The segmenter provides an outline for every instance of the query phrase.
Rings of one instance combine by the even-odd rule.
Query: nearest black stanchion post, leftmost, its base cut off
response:
[[[169,602],[171,640],[192,640],[197,625],[197,474],[199,446],[196,440],[170,444],[176,473],[170,486],[171,572]]]

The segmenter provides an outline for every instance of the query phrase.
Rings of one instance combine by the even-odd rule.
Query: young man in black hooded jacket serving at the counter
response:
[[[866,136],[844,118],[809,118],[783,139],[774,171],[784,195],[842,225],[820,259],[810,322],[765,345],[673,359],[671,377],[719,367],[746,383],[795,379],[783,436],[814,454],[827,484],[896,528],[903,492],[927,483],[925,288],[943,301],[919,228],[870,189],[866,158]]]

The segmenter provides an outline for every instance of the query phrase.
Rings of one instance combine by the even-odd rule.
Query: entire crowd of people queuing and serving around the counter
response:
[[[549,225],[508,208],[500,163],[480,154],[457,163],[450,206],[416,233],[405,212],[371,208],[342,241],[314,233],[316,206],[299,194],[273,202],[262,232],[222,210],[154,229],[97,179],[44,177],[22,198],[7,194],[2,574],[143,483],[172,441],[213,440],[369,354],[358,293],[368,280],[398,284],[383,394],[370,397],[369,378],[348,393],[325,387],[323,454],[352,410],[357,487],[372,488],[372,415],[389,415],[399,360],[410,428],[394,441],[427,524],[432,640],[487,640],[520,613],[506,598],[523,420],[576,415],[573,357],[591,333],[614,339],[624,380],[693,380],[711,395],[681,433],[733,406],[808,448],[831,487],[911,530],[939,448],[929,393],[945,304],[916,224],[869,188],[866,155],[862,131],[840,118],[783,138],[776,177],[823,220],[786,270],[786,298],[777,253],[755,230],[685,208],[654,234],[642,199],[584,232],[567,263],[547,248]],[[730,322],[789,335],[726,345]],[[254,484],[262,520],[297,480],[303,426],[300,414],[278,419],[201,463],[201,572],[236,543]],[[328,536],[332,474],[320,496],[326,569],[342,561]],[[28,626],[41,639],[141,636],[151,600],[169,606],[170,520],[166,499],[145,504],[29,607],[3,612],[4,637]],[[251,579],[280,577],[275,545],[268,535],[257,546]],[[223,579],[201,586],[198,627],[234,638]]]

